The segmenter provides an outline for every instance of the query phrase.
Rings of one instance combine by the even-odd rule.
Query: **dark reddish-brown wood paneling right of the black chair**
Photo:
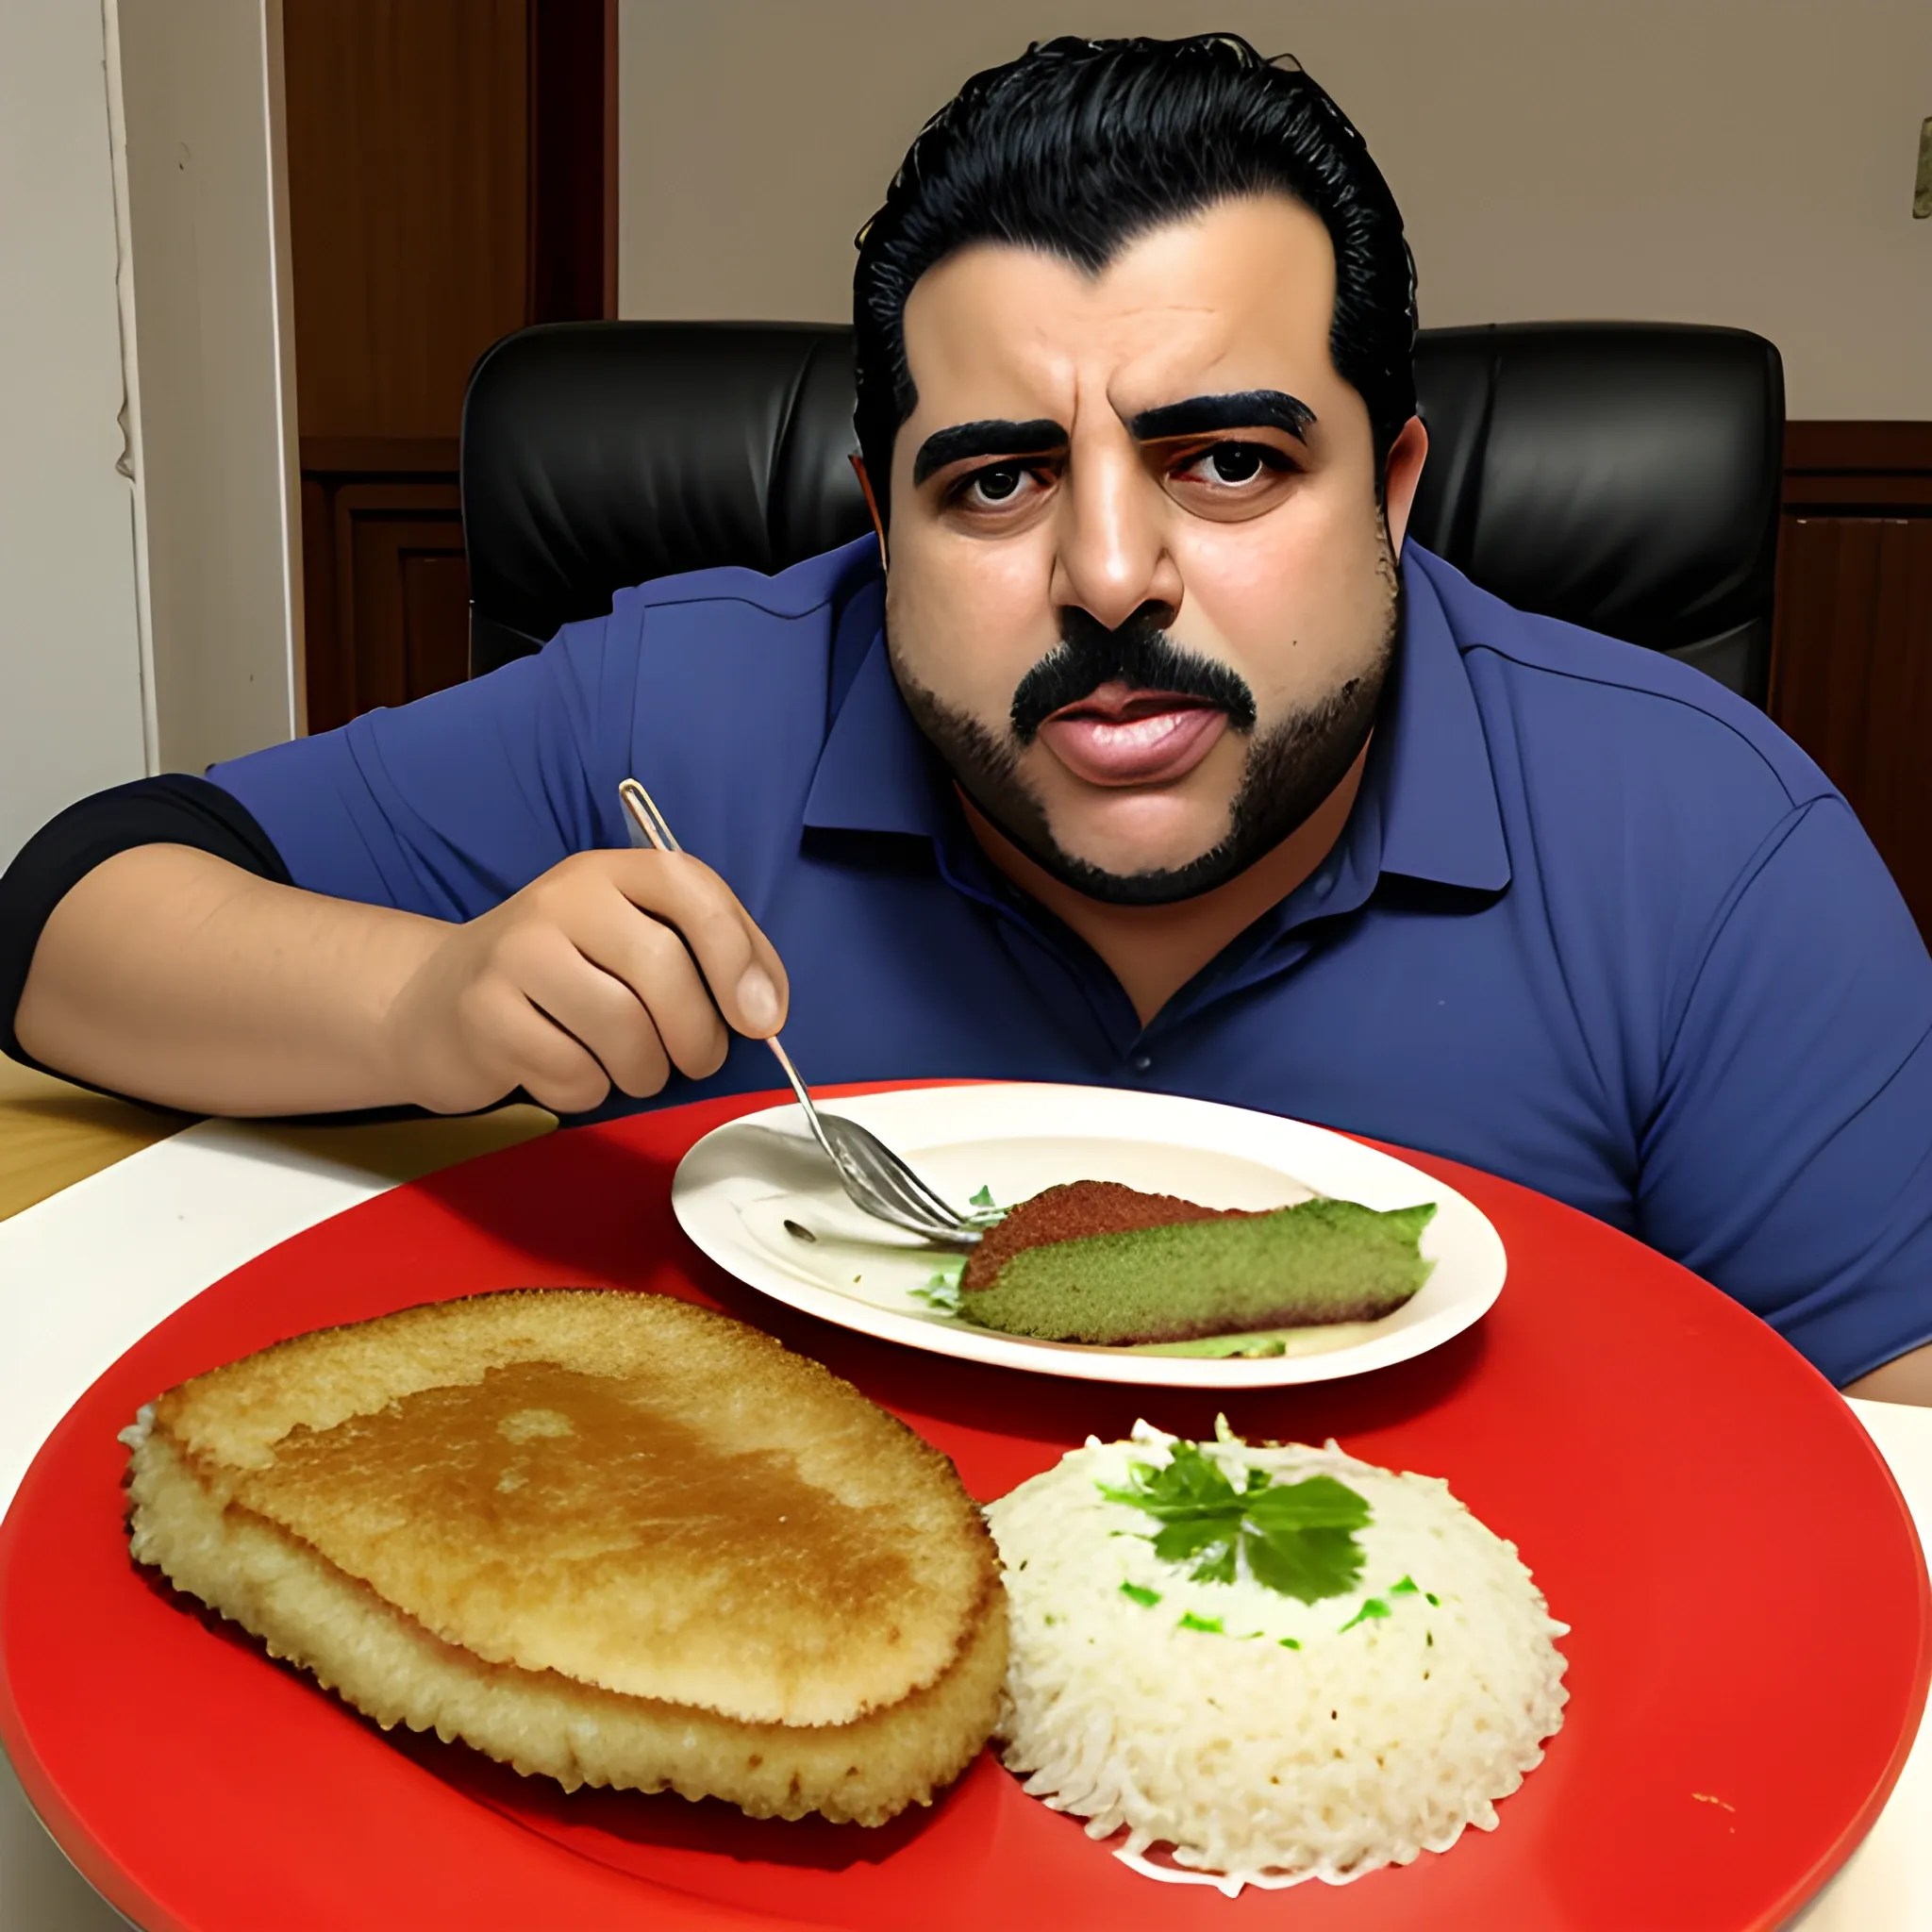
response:
[[[1932,935],[1932,423],[1791,423],[1772,717]]]

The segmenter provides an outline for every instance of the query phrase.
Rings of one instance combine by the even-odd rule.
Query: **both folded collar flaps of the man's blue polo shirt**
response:
[[[1447,568],[1418,545],[1403,553],[1393,701],[1376,734],[1374,800],[1364,798],[1356,817],[1372,817],[1379,829],[1378,873],[1495,893],[1509,885],[1509,846],[1463,639],[1435,591],[1434,574]],[[819,753],[804,821],[823,831],[941,838],[943,777],[898,696],[881,599],[866,589],[846,601],[838,620],[835,659],[858,657],[858,668]],[[1368,829],[1362,823],[1352,833]]]

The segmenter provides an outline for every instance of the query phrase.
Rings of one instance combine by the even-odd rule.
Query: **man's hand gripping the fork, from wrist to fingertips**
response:
[[[437,1113],[522,1086],[583,1113],[616,1086],[724,1063],[730,1032],[784,1024],[784,968],[709,866],[674,852],[580,852],[454,925],[383,1018],[402,1094]]]

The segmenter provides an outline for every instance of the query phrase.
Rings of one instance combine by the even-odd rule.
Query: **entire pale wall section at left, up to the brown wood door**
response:
[[[0,0],[0,866],[299,724],[278,0]]]

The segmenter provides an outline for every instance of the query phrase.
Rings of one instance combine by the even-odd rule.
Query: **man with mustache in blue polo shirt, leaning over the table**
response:
[[[1173,1088],[1932,1399],[1932,962],[1758,713],[1403,553],[1412,267],[1335,104],[1039,46],[914,143],[856,321],[877,547],[75,808],[6,885],[17,1049],[224,1113],[761,1088],[781,1024],[825,1082]],[[612,850],[628,773],[709,864]]]

